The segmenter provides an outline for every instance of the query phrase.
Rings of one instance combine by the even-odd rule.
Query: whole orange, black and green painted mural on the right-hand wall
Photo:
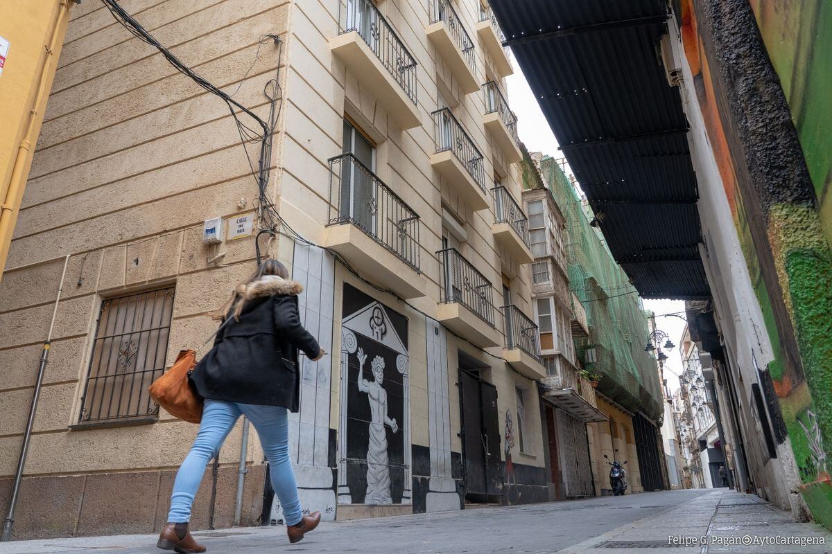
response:
[[[749,9],[741,7],[737,5],[737,12]],[[747,19],[750,25],[758,26],[764,44],[765,60],[759,66],[769,71],[766,64],[770,64],[780,81],[800,138],[802,151],[798,158],[805,162],[799,164],[785,184],[776,179],[770,179],[771,183],[765,179],[755,181],[747,160],[731,154],[742,152],[743,148],[754,153],[748,145],[733,143],[737,140],[735,127],[744,125],[744,118],[753,118],[755,114],[750,110],[736,113],[733,107],[743,99],[726,98],[716,66],[725,62],[713,55],[719,49],[712,42],[725,42],[731,33],[734,37],[742,35],[735,32],[736,22],[719,20],[699,2],[682,2],[681,32],[711,146],[774,350],[774,360],[766,364],[765,371],[773,381],[804,483],[800,490],[813,515],[832,528],[832,478],[826,464],[832,448],[832,329],[828,317],[832,309],[832,150],[827,132],[832,108],[825,96],[830,88],[826,68],[832,59],[832,8],[829,2],[820,0],[753,0],[750,10],[751,17]],[[704,23],[706,31],[700,28]],[[730,31],[723,32],[721,26]],[[821,29],[825,31],[820,32]],[[753,33],[746,36],[753,37]],[[710,41],[708,47],[705,41]],[[753,44],[744,46],[752,53],[758,51]],[[759,107],[761,101],[776,103],[777,98],[760,93],[760,87],[753,91],[759,96],[756,105]],[[730,120],[728,125],[726,118]],[[756,124],[769,135],[780,135],[760,121]],[[790,155],[784,149],[773,150],[784,152],[784,159]],[[782,167],[789,164],[783,163]],[[764,176],[770,178],[769,174]],[[749,188],[749,183],[755,186]]]

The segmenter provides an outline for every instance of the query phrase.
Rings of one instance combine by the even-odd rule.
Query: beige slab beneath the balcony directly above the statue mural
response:
[[[360,272],[372,276],[379,286],[404,299],[427,294],[428,280],[421,273],[351,223],[326,228],[324,246],[338,252]]]

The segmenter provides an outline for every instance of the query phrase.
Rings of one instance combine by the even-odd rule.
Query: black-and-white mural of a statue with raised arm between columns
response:
[[[408,321],[344,284],[339,504],[410,504]]]

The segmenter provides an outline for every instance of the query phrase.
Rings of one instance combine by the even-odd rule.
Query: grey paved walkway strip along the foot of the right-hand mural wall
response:
[[[796,544],[784,542],[799,541]],[[802,543],[800,543],[802,542]],[[816,544],[807,544],[815,542]],[[610,550],[614,549],[614,550]],[[759,497],[716,489],[557,554],[820,554],[832,533],[799,523]]]

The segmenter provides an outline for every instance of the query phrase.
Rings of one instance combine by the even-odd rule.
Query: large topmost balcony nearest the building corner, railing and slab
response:
[[[416,61],[372,0],[341,0],[338,36],[329,50],[402,129],[422,125],[416,103]]]

